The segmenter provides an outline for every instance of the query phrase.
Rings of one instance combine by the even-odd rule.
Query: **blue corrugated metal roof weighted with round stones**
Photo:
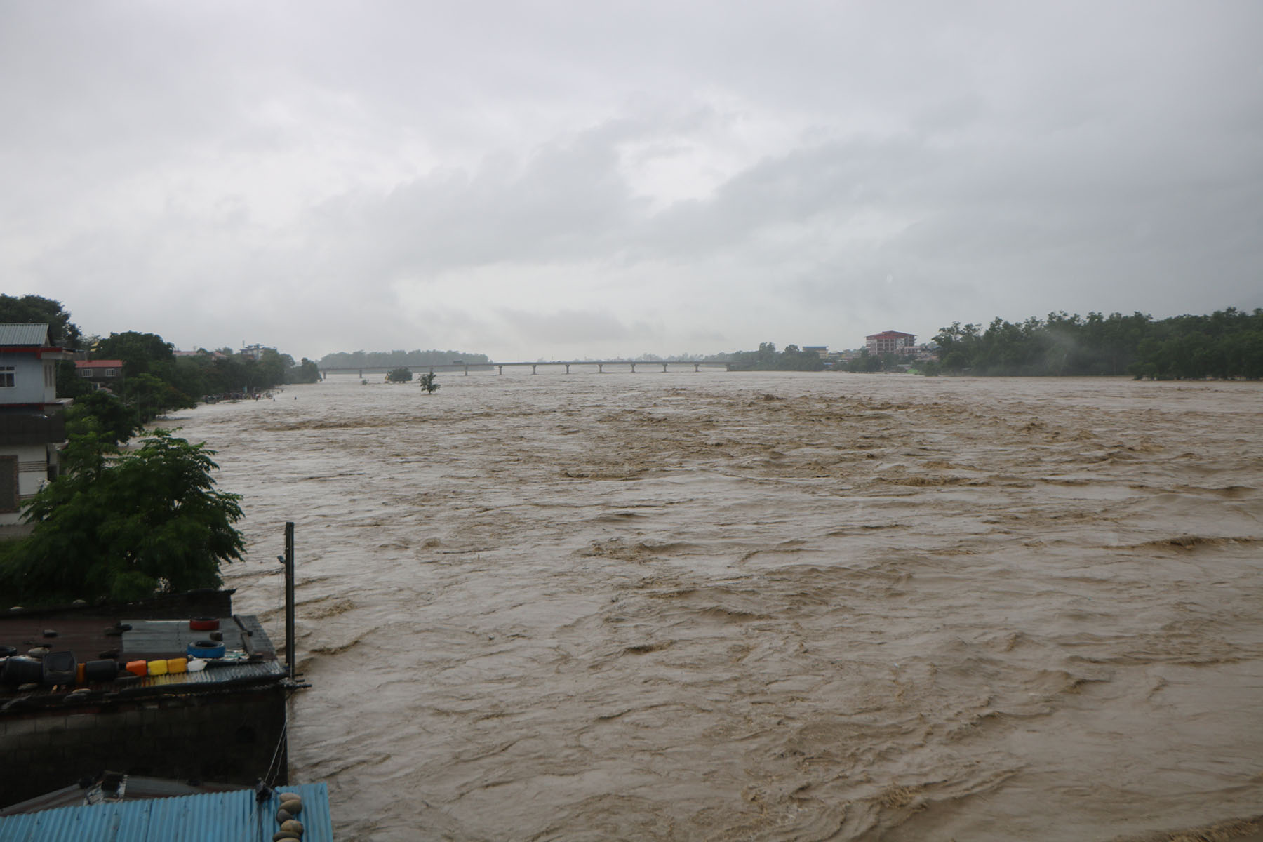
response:
[[[303,799],[303,842],[333,842],[325,784],[279,792]],[[279,829],[277,794],[256,803],[253,789],[139,802],[59,807],[0,817],[0,842],[270,842]]]

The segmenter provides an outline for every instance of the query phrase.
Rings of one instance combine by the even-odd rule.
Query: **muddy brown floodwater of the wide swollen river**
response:
[[[169,419],[245,497],[226,583],[278,645],[297,524],[292,775],[328,783],[340,839],[1111,839],[1263,813],[1258,384],[440,384]]]

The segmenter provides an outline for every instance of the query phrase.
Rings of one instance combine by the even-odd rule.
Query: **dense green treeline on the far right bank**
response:
[[[997,318],[985,329],[956,322],[935,343],[945,374],[1263,377],[1263,309],[1158,321],[1144,313],[1051,313],[1019,324]]]

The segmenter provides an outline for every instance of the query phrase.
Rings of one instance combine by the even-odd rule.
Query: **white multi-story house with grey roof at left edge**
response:
[[[57,476],[66,420],[57,401],[57,362],[71,353],[48,343],[47,324],[0,324],[0,526]]]

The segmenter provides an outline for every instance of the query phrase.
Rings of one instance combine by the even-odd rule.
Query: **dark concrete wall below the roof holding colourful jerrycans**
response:
[[[285,691],[273,684],[232,693],[165,697],[66,713],[0,717],[0,807],[104,770],[250,785],[288,783]]]

